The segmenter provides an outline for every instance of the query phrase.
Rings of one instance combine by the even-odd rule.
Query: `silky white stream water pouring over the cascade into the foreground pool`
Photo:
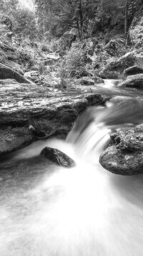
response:
[[[1,256],[142,256],[143,176],[99,165],[109,133],[132,123],[142,123],[142,101],[116,97],[79,116],[66,141],[34,142],[1,160]],[[41,159],[45,146],[76,167]]]

